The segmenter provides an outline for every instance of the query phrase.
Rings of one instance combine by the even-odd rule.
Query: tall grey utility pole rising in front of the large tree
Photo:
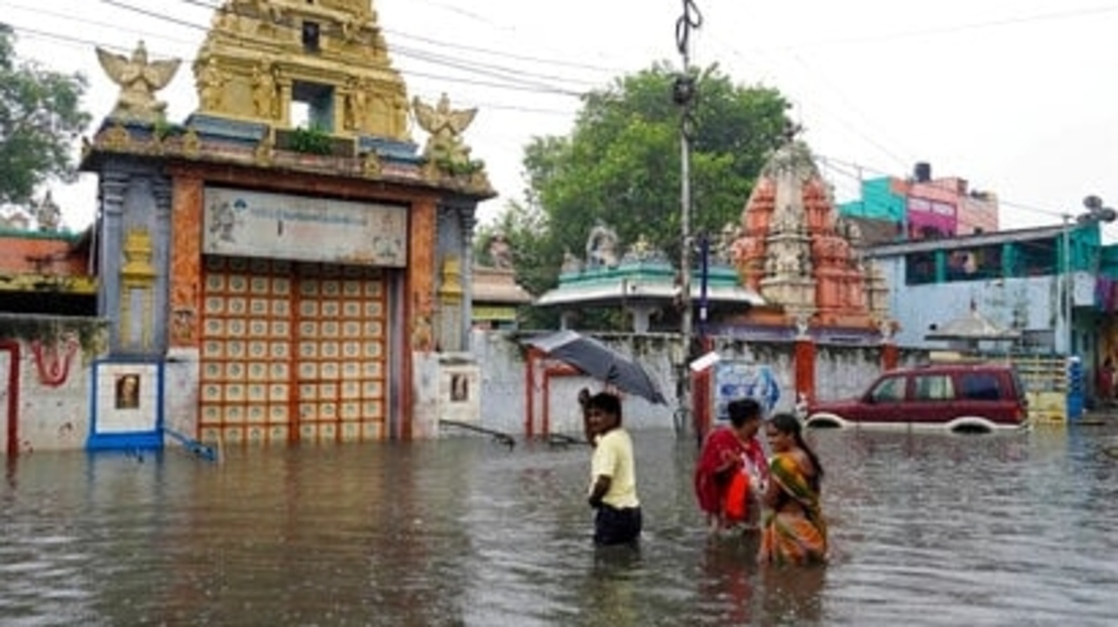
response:
[[[691,107],[695,98],[695,79],[691,74],[691,30],[702,26],[702,16],[694,0],[683,0],[683,15],[675,22],[675,46],[683,67],[672,86],[672,99],[680,107],[680,338],[683,362],[676,382],[679,408],[675,429],[684,433],[691,417]]]

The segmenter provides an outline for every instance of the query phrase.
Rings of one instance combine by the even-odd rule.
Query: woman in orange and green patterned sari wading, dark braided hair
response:
[[[765,492],[768,511],[761,524],[761,563],[826,561],[827,525],[819,509],[823,465],[804,441],[799,420],[778,414],[765,426],[773,459]]]

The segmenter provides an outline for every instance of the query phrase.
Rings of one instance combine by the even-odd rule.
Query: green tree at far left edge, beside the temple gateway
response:
[[[89,123],[79,108],[86,80],[18,60],[0,23],[0,205],[23,203],[51,178],[73,181],[74,140]]]

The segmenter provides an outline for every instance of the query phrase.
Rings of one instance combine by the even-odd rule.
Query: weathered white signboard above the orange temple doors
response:
[[[366,266],[407,265],[407,209],[206,188],[202,251]]]

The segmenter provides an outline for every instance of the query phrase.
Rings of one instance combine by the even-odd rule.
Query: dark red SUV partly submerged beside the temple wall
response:
[[[936,364],[879,377],[859,398],[808,402],[807,427],[995,431],[1029,425],[1025,389],[1008,364]]]

